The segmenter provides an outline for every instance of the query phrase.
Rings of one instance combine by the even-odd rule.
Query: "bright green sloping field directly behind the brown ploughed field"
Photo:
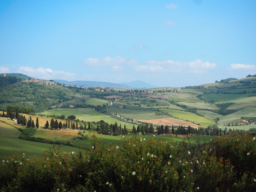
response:
[[[213,119],[201,117],[195,113],[190,113],[186,111],[178,111],[173,109],[161,109],[164,112],[171,114],[173,117],[178,117],[179,119],[194,122],[195,124],[200,124],[201,126],[209,126],[210,124],[216,124]]]

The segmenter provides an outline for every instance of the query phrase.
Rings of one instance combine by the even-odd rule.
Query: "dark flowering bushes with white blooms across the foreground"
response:
[[[237,141],[238,140],[238,141]],[[255,140],[255,139],[254,139]],[[125,137],[107,145],[42,158],[4,157],[1,191],[251,191],[256,188],[255,143],[250,135],[218,137],[208,144]],[[247,155],[249,153],[249,155]]]

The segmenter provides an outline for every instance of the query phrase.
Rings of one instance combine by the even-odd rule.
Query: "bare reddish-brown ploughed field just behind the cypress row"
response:
[[[180,119],[174,119],[173,117],[168,117],[168,118],[163,118],[163,119],[150,119],[150,120],[139,120],[136,119],[136,121],[141,121],[141,122],[146,122],[146,123],[152,123],[152,124],[158,124],[158,125],[168,125],[168,126],[172,126],[172,125],[182,125],[182,126],[186,126],[188,127],[188,125],[190,125],[191,127],[198,127],[197,124],[194,124],[192,122],[189,121],[183,121]]]

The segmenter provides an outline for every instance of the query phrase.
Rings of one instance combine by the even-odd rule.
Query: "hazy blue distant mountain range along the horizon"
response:
[[[84,86],[84,87],[95,87],[95,86],[101,86],[101,87],[134,87],[134,88],[153,88],[156,87],[154,85],[148,84],[143,81],[132,81],[130,83],[110,83],[110,82],[101,82],[101,81],[65,81],[60,79],[53,79],[53,81],[65,84],[65,85],[76,85],[76,86]]]

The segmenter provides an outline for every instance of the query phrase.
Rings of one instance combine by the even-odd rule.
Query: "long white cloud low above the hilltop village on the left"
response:
[[[32,68],[27,66],[22,66],[16,70],[17,73],[26,74],[28,76],[32,76],[38,79],[69,79],[73,78],[76,74],[69,73],[65,71],[55,71],[50,68]]]

